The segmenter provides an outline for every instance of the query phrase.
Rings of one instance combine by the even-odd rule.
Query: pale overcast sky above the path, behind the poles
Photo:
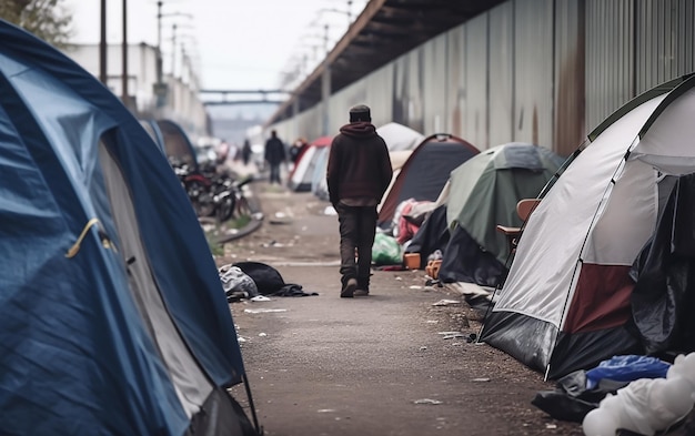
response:
[[[162,52],[167,71],[173,30],[195,60],[202,88],[276,89],[282,73],[305,59],[312,67],[344,34],[366,0],[163,0]],[[350,4],[351,3],[351,4]],[[73,17],[73,42],[98,43],[99,0],[63,0]],[[350,6],[349,6],[350,4]],[[123,0],[107,0],[107,38],[122,41]],[[157,1],[128,0],[128,41],[157,45]],[[181,50],[180,47],[178,49]],[[313,64],[315,65],[315,63]]]

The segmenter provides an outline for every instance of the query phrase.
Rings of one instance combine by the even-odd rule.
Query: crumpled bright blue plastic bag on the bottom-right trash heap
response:
[[[647,356],[613,356],[586,372],[586,387],[593,389],[601,379],[632,382],[638,378],[665,378],[671,367],[667,362]]]

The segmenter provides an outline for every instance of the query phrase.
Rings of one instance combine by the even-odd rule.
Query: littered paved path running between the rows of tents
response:
[[[329,204],[264,182],[255,191],[263,225],[218,264],[263,262],[319,294],[230,304],[265,435],[583,435],[531,404],[552,383],[466,342],[480,317],[460,295],[426,287],[422,271],[375,271],[373,295],[340,298]],[[249,407],[243,386],[232,392]]]

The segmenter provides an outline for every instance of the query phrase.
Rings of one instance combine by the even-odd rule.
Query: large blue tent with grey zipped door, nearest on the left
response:
[[[253,434],[167,159],[69,58],[2,20],[0,41],[0,434]]]

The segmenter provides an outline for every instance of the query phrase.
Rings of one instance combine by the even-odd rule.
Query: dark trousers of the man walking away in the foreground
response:
[[[376,232],[376,206],[336,205],[340,223],[340,273],[342,282],[356,278],[361,288],[370,285],[372,246]],[[356,261],[355,261],[356,256]]]

